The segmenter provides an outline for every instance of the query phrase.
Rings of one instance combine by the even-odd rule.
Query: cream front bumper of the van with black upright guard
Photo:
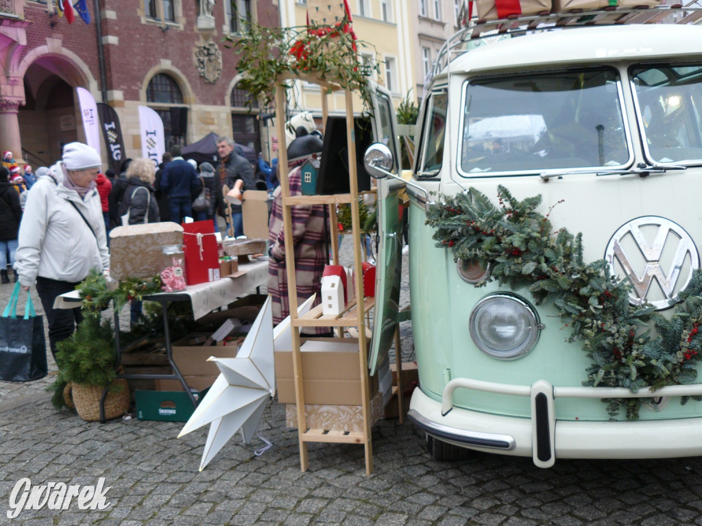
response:
[[[531,398],[531,418],[507,417],[453,407],[453,391],[474,389]],[[420,429],[444,442],[470,449],[532,457],[548,468],[562,459],[655,459],[702,455],[699,418],[592,422],[558,420],[553,400],[567,398],[650,398],[699,396],[702,384],[677,385],[655,393],[609,387],[555,388],[544,380],[513,386],[456,378],[446,384],[442,401],[415,389],[407,416]]]

